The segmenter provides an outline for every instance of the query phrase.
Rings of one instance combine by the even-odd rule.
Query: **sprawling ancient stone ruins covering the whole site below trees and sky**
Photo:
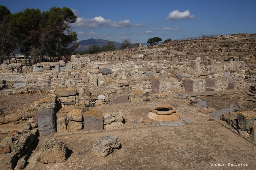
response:
[[[233,144],[255,159],[255,47],[255,34],[239,33],[72,55],[67,63],[4,60],[1,166],[126,169],[132,162],[143,169],[131,157],[143,162],[170,150],[183,160],[188,145]]]

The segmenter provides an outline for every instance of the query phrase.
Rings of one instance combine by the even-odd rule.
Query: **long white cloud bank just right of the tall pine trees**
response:
[[[84,17],[77,17],[76,22],[73,24],[75,27],[84,27],[84,28],[97,28],[101,26],[105,27],[130,27],[132,23],[129,19],[123,21],[111,21],[110,19],[105,19],[101,16],[86,19]]]

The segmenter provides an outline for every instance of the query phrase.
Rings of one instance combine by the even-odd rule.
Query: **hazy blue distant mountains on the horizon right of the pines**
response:
[[[91,47],[92,45],[94,44],[97,44],[99,45],[100,47],[103,47],[104,45],[107,45],[108,42],[110,42],[109,40],[103,40],[103,39],[94,39],[94,38],[91,38],[91,39],[88,39],[88,40],[82,40],[82,41],[79,41],[79,47],[76,48],[76,51],[85,51],[85,50],[88,50],[89,47]],[[115,47],[118,49],[120,48],[121,46],[121,42],[116,42],[116,41],[112,41],[115,43]],[[142,43],[142,45],[149,45],[148,43]]]

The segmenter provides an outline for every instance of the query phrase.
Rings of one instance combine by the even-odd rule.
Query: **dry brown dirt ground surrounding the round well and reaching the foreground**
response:
[[[245,94],[223,96],[201,96],[207,101],[208,113],[199,112],[199,108],[189,104],[186,99],[159,99],[154,102],[99,105],[95,107],[102,113],[124,113],[124,129],[116,131],[56,133],[68,147],[69,157],[64,163],[36,163],[42,141],[32,153],[26,169],[234,169],[228,163],[245,163],[248,166],[235,169],[255,169],[256,146],[237,136],[233,132],[213,121],[210,113],[232,103],[239,104],[241,110],[255,108],[255,104],[244,100]],[[26,96],[26,100],[34,99]],[[232,99],[232,100],[231,100]],[[39,100],[39,99],[38,99]],[[16,105],[24,107],[17,100]],[[225,103],[225,104],[223,104]],[[154,127],[137,123],[140,117],[148,119],[150,107],[169,104],[177,108],[180,118],[189,118],[195,122],[179,127]],[[0,103],[1,105],[1,103]],[[226,107],[225,106],[225,107]],[[1,107],[1,106],[0,106]],[[70,108],[63,107],[57,117],[67,115]],[[92,108],[86,108],[87,110]],[[94,109],[94,108],[93,108]],[[181,121],[181,120],[180,120]],[[135,123],[136,122],[136,123]],[[0,129],[6,125],[0,125]],[[117,135],[122,148],[106,158],[91,155],[92,144],[106,135]],[[224,163],[225,166],[210,166],[210,163]]]

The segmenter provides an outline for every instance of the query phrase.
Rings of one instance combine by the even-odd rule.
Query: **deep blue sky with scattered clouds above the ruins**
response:
[[[80,40],[89,38],[132,43],[148,38],[256,33],[255,0],[0,0],[12,13],[25,8],[47,11],[52,6],[69,7],[77,15],[72,26]]]

